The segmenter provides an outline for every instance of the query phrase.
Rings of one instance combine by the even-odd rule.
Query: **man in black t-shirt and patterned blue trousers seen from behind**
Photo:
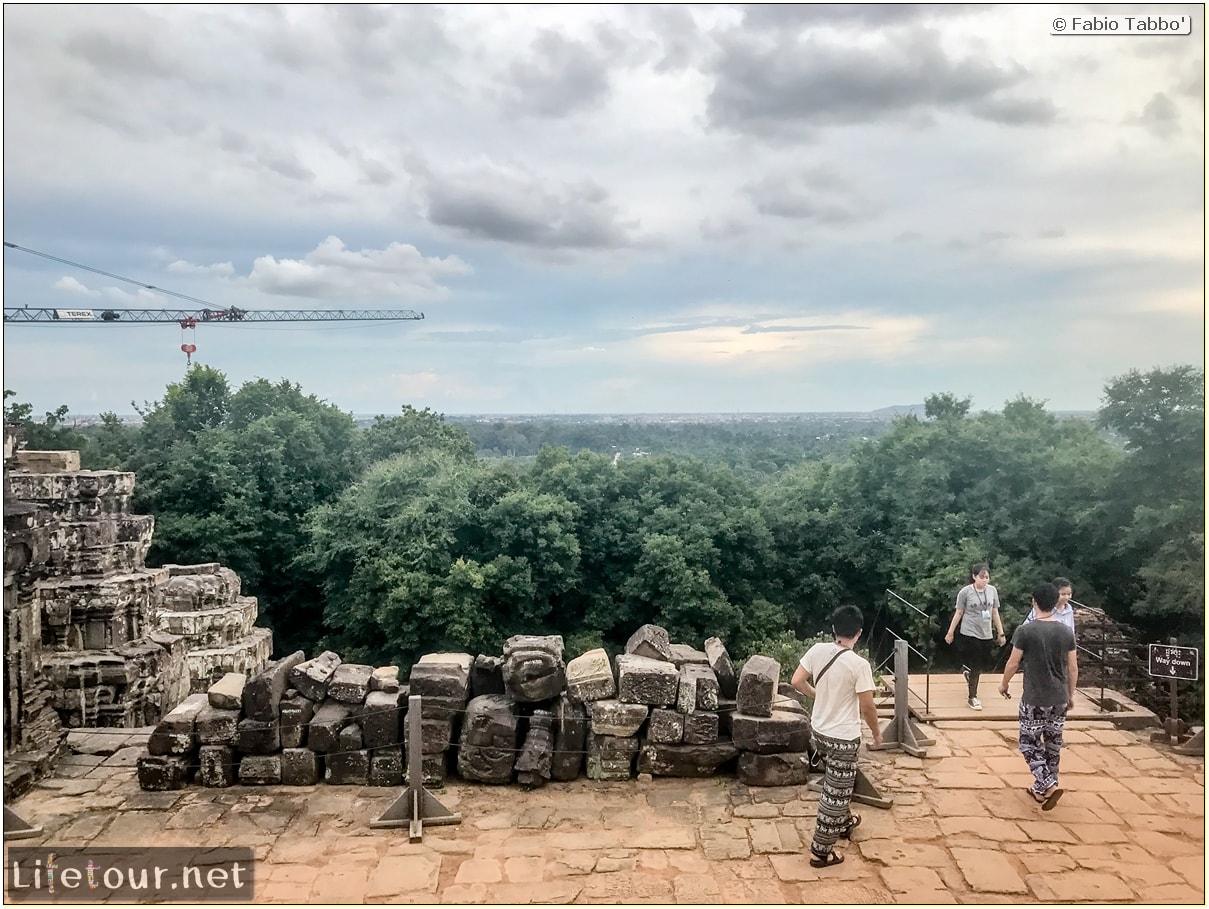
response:
[[[1020,697],[1020,753],[1029,763],[1034,783],[1029,792],[1048,811],[1058,804],[1058,760],[1066,711],[1075,706],[1078,662],[1075,659],[1075,635],[1054,618],[1058,587],[1042,583],[1032,589],[1036,620],[1012,635],[1012,655],[1003,667],[999,693],[1007,694],[1007,683],[1024,666],[1024,695]]]

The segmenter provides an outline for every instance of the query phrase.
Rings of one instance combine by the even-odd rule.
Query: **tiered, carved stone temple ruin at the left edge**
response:
[[[147,568],[155,519],[134,474],[22,451],[5,427],[5,793],[45,774],[71,728],[158,723],[226,671],[259,672],[272,635],[218,564]]]

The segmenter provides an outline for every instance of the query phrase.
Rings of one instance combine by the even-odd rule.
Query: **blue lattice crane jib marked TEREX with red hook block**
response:
[[[46,323],[79,325],[81,323],[110,323],[117,325],[149,325],[175,322],[180,325],[185,364],[193,361],[197,352],[198,325],[254,322],[400,322],[423,319],[424,314],[411,309],[52,309],[29,307],[5,307],[6,325],[19,323]],[[185,332],[191,332],[189,337]]]

